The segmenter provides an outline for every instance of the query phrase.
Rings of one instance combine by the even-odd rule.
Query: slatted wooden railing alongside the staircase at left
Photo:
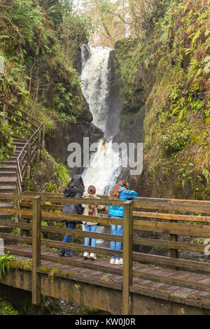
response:
[[[8,120],[12,125],[25,130],[25,135],[15,135],[14,137],[27,139],[27,143],[17,158],[17,193],[23,192],[23,177],[31,174],[31,162],[36,158],[36,165],[40,158],[41,149],[45,148],[45,125],[31,116],[29,113],[16,108],[9,102],[4,102],[4,120]]]

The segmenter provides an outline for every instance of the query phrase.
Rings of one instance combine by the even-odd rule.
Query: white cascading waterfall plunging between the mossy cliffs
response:
[[[83,95],[90,106],[92,123],[99,127],[106,136],[107,116],[110,109],[109,99],[109,54],[111,48],[104,46],[91,47],[83,45],[82,73]],[[88,56],[87,56],[88,54]],[[116,124],[113,122],[113,125]],[[116,133],[118,130],[116,130]],[[108,195],[109,188],[116,183],[121,170],[121,161],[118,153],[113,151],[112,139],[105,142],[101,139],[97,144],[97,151],[90,158],[90,167],[83,172],[85,188],[93,185],[97,194]]]

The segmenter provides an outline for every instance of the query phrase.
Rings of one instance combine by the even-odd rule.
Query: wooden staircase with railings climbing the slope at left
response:
[[[23,127],[29,130],[27,139],[13,137],[14,151],[12,157],[0,166],[0,193],[20,195],[23,190],[23,177],[27,174],[30,177],[31,162],[36,160],[38,165],[41,148],[44,149],[45,126],[29,113],[15,108],[8,102],[3,104],[5,116],[3,120],[15,127]],[[1,119],[0,119],[1,120]],[[14,129],[13,129],[14,130]],[[19,206],[19,204],[18,204]],[[14,205],[10,201],[1,201],[0,208]],[[11,215],[0,214],[0,220],[9,221]],[[0,226],[0,232],[11,232],[12,229],[6,226]],[[7,241],[4,241],[6,243]]]

